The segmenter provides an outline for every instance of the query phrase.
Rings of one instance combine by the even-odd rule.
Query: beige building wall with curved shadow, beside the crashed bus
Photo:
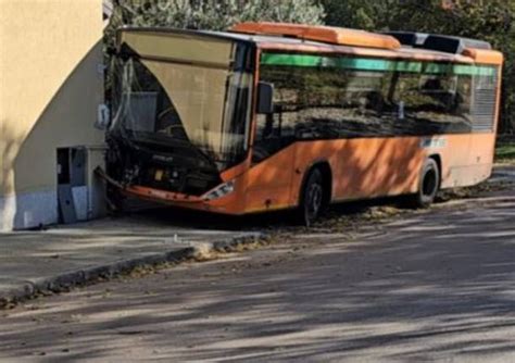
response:
[[[102,0],[0,0],[0,229],[58,222],[58,148],[102,163]]]

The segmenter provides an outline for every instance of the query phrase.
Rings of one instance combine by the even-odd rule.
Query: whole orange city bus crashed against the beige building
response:
[[[275,23],[122,28],[108,179],[241,215],[440,189],[492,171],[503,55],[479,40]]]

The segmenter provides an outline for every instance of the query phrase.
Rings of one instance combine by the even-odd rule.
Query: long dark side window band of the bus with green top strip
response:
[[[275,86],[276,112],[258,118],[256,160],[297,140],[470,133],[485,123],[475,89],[494,95],[498,73],[481,65],[281,53],[262,54],[260,72]]]

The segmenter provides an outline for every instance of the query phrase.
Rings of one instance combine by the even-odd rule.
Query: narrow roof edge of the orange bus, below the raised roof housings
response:
[[[237,29],[237,28],[236,28]],[[123,27],[120,32],[135,33],[174,33],[185,35],[206,36],[234,41],[242,41],[255,45],[261,49],[306,51],[324,53],[356,54],[363,57],[381,57],[415,59],[428,61],[456,62],[456,63],[485,63],[502,64],[503,55],[495,50],[464,48],[462,53],[424,49],[409,45],[400,47],[377,48],[369,46],[340,45],[321,40],[310,40],[293,36],[280,36],[271,34],[249,34],[237,32],[213,32],[213,30],[185,30],[167,27]],[[451,38],[451,37],[450,37]],[[454,38],[454,37],[452,37]],[[459,38],[454,38],[459,39]]]

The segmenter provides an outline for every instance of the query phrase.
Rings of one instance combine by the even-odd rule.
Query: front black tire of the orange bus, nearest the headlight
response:
[[[324,176],[319,168],[314,168],[307,175],[301,190],[298,209],[298,221],[306,227],[321,216],[325,208]]]

